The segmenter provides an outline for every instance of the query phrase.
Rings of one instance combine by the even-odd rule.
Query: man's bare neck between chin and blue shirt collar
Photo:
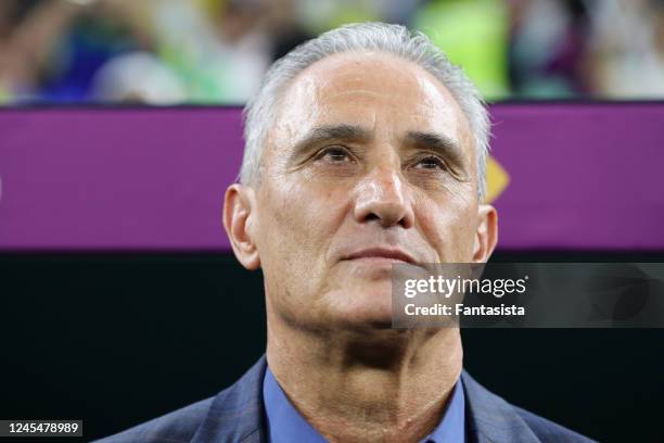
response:
[[[270,370],[333,442],[426,436],[459,378],[462,354],[456,328],[303,331],[268,320]]]

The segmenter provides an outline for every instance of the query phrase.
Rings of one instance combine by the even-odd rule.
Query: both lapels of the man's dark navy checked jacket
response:
[[[265,355],[234,384],[221,391],[192,443],[259,443],[267,441],[263,379]],[[473,443],[539,443],[540,440],[514,406],[490,393],[465,370],[461,372],[465,394],[468,441]]]

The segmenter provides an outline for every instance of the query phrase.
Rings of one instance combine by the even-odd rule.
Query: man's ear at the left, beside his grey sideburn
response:
[[[233,183],[224,199],[224,228],[238,261],[250,270],[258,269],[260,258],[256,248],[256,194],[247,186]]]

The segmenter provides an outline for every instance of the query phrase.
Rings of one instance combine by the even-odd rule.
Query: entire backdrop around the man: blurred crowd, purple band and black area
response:
[[[261,279],[219,221],[239,106],[294,46],[373,20],[491,102],[494,260],[664,262],[662,0],[0,0],[0,418],[81,418],[88,441],[263,353]],[[462,333],[513,403],[664,442],[664,330]]]

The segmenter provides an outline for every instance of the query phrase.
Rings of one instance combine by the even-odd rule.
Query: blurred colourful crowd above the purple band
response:
[[[427,34],[489,100],[664,98],[664,0],[0,0],[0,105],[242,104],[363,21]]]

